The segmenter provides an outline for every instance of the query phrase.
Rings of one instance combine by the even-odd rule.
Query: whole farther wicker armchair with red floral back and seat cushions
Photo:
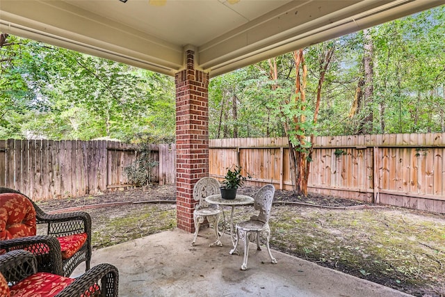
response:
[[[6,201],[26,205],[24,211],[29,214],[10,218]],[[37,258],[38,271],[63,276],[70,276],[81,262],[86,262],[86,271],[90,269],[91,217],[88,213],[46,214],[26,195],[10,188],[0,187],[0,202],[0,254],[10,250],[28,250]],[[9,220],[13,219],[22,219],[13,222],[13,226],[19,225],[15,232],[8,231],[11,227]],[[35,236],[37,224],[47,225],[46,235]]]

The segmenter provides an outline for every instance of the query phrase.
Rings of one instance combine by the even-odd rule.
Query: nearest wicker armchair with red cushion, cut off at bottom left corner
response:
[[[0,255],[0,296],[118,296],[118,269],[99,264],[79,276],[65,278],[38,272],[37,259],[26,250]]]

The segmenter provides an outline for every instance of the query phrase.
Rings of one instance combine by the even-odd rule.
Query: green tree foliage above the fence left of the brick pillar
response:
[[[171,77],[13,35],[0,54],[2,139],[175,133]]]

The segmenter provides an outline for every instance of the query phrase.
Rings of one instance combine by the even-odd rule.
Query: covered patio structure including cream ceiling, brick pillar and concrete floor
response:
[[[252,250],[239,271],[228,236],[225,248],[190,246],[192,193],[209,175],[211,77],[444,3],[2,0],[0,31],[175,77],[179,229],[93,252],[92,266],[118,267],[121,296],[406,296],[277,251],[271,265]]]

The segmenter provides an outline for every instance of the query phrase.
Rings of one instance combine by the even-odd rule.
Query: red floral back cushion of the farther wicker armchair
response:
[[[36,232],[31,201],[18,193],[0,194],[0,240],[34,236]]]

